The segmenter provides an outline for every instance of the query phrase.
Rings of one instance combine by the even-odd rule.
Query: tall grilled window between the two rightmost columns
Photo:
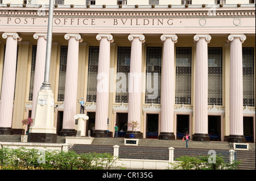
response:
[[[222,48],[208,48],[208,105],[222,105]]]

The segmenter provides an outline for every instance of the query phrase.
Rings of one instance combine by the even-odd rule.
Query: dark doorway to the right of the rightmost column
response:
[[[243,117],[243,136],[246,142],[254,142],[253,117]]]

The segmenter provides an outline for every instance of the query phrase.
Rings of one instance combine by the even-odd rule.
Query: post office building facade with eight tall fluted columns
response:
[[[24,134],[44,79],[48,5],[1,3],[0,133]],[[117,124],[127,136],[138,121],[139,138],[255,142],[253,1],[108,3],[55,1],[57,135],[76,134],[84,98],[86,135],[113,136]]]

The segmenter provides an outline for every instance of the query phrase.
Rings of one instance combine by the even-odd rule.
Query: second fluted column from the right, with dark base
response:
[[[208,136],[208,46],[210,35],[195,35],[195,134],[193,141],[210,141]]]

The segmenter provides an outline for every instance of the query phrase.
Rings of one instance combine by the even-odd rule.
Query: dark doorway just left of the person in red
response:
[[[176,140],[182,140],[186,132],[189,132],[189,115],[177,115]]]

